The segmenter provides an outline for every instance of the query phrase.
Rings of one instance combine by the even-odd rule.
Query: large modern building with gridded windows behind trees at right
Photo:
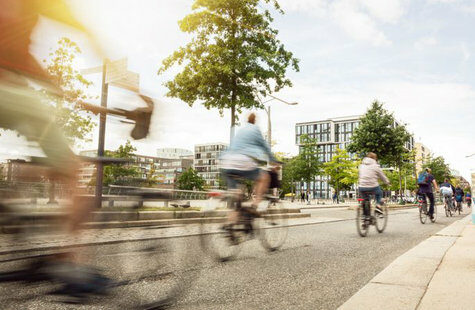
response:
[[[317,139],[317,152],[321,162],[328,162],[332,159],[336,148],[346,149],[351,142],[351,137],[360,124],[361,115],[331,118],[321,121],[303,122],[295,125],[295,143],[300,148],[300,136],[307,134],[311,138]],[[397,125],[397,123],[395,124]],[[406,148],[414,148],[414,139],[407,143]],[[355,156],[351,154],[350,156]],[[307,192],[307,184],[297,185],[297,192]],[[319,176],[310,183],[309,192],[314,198],[331,198],[332,188],[328,184],[326,176]],[[350,192],[351,193],[351,192]]]

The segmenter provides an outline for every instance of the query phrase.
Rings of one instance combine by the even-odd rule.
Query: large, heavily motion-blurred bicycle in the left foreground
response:
[[[92,159],[102,163],[116,159]],[[1,191],[10,202],[0,201],[0,228],[9,232],[10,246],[0,251],[0,304],[2,307],[44,308],[48,303],[86,304],[92,308],[164,309],[172,305],[189,288],[196,277],[196,256],[190,255],[190,242],[186,238],[155,238],[136,236],[133,239],[104,241],[102,230],[89,233],[90,240],[70,240],[58,234],[63,218],[37,216],[18,212],[11,203],[14,193]],[[151,189],[134,189],[125,193],[135,201],[147,199],[172,200],[171,193]],[[41,224],[41,231],[32,224]],[[174,228],[178,229],[178,228]],[[41,233],[43,237],[55,232],[55,238],[64,239],[61,246],[35,246],[29,249],[17,245],[30,244]],[[145,232],[145,230],[144,230]],[[140,232],[139,232],[140,234]],[[51,237],[50,237],[51,238]],[[61,263],[68,253],[79,253],[87,265],[73,266]],[[77,254],[76,254],[77,255]],[[2,270],[1,265],[13,268]],[[78,279],[94,279],[97,291],[87,289],[68,292]],[[74,283],[74,284],[73,284]],[[80,282],[81,283],[81,282]],[[15,288],[26,285],[27,290]],[[60,288],[61,287],[61,288]],[[15,288],[15,294],[8,294]],[[148,292],[154,292],[147,295]]]

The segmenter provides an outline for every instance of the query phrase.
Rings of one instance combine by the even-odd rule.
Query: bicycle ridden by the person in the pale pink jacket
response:
[[[356,229],[361,237],[368,235],[371,225],[376,227],[378,233],[382,233],[388,224],[388,206],[386,204],[380,206],[381,212],[377,211],[376,208],[372,208],[371,195],[374,195],[374,193],[364,193],[362,198],[358,198]]]

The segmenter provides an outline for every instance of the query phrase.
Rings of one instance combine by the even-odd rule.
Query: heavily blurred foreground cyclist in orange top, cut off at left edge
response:
[[[39,92],[29,87],[35,81],[50,93],[62,91],[29,52],[30,37],[40,15],[74,27],[87,34],[63,0],[0,0],[0,128],[16,130],[37,141],[52,167],[52,177],[62,178],[73,191],[79,164],[61,130],[55,126],[49,107]],[[73,204],[69,232],[78,233],[79,225],[90,213],[92,204]],[[108,280],[75,262],[76,255],[49,260],[46,267],[64,283],[60,292],[80,294],[103,291]]]

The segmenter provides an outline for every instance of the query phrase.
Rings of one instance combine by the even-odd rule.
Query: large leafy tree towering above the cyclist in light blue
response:
[[[242,109],[262,108],[265,97],[285,86],[287,68],[299,70],[298,60],[276,38],[269,10],[261,2],[274,0],[195,0],[193,13],[179,22],[183,32],[194,38],[166,58],[158,74],[174,65],[183,69],[165,83],[167,96],[192,106],[202,103],[220,114],[231,110],[231,127]]]

